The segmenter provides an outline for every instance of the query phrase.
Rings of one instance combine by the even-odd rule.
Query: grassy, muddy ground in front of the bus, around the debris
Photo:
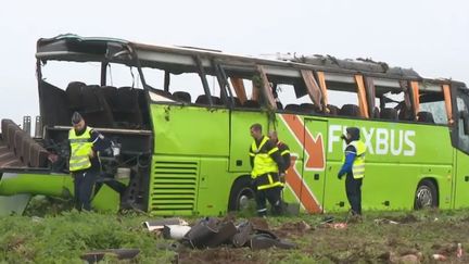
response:
[[[24,216],[1,218],[0,263],[84,263],[79,256],[89,250],[118,248],[141,252],[130,261],[106,256],[103,263],[432,263],[435,253],[447,262],[469,263],[466,254],[456,256],[457,243],[462,250],[469,247],[469,211],[365,212],[360,223],[348,223],[344,229],[321,224],[326,215],[270,217],[269,228],[295,242],[296,249],[174,251],[169,246],[175,241],[141,225],[157,217],[78,213],[41,200],[33,204]],[[238,215],[238,221],[241,216],[249,213]],[[341,223],[346,214],[328,216]]]

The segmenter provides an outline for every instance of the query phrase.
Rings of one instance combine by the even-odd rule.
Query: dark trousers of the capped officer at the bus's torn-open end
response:
[[[98,172],[85,171],[74,173],[74,197],[75,208],[78,211],[91,210],[91,196],[94,188],[94,183],[98,177]]]

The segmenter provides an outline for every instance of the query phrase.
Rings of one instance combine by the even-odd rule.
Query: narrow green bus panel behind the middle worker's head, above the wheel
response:
[[[250,127],[255,123],[261,124],[264,135],[267,135],[269,127],[266,113],[242,110],[231,111],[229,172],[251,173],[249,148],[253,138],[251,137]]]

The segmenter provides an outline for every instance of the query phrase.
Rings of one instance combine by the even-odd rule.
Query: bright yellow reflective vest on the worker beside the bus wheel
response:
[[[269,138],[264,136],[258,148],[255,140],[251,144],[252,153],[250,153],[250,155],[254,158],[254,167],[251,172],[252,178],[256,178],[257,176],[267,173],[278,173],[278,165],[270,156],[271,153],[278,151],[278,148],[275,147],[268,152],[261,152],[264,144],[266,144]]]

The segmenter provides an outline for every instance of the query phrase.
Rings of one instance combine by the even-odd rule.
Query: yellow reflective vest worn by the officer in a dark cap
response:
[[[75,129],[68,131],[68,140],[71,142],[71,159],[69,159],[69,171],[76,172],[91,167],[91,161],[89,153],[92,150],[92,142],[89,142],[91,138],[91,128],[87,127],[84,134],[77,136]]]

